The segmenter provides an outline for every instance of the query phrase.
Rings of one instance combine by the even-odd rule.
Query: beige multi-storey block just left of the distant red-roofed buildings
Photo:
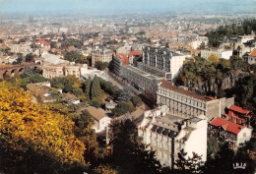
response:
[[[94,49],[92,51],[92,65],[95,66],[96,62],[107,62],[112,60],[112,52],[109,49]]]

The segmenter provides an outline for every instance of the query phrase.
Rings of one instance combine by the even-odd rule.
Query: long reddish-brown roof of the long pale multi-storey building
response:
[[[175,91],[177,93],[188,95],[192,98],[196,98],[196,99],[203,100],[203,101],[210,101],[210,100],[215,99],[215,98],[212,98],[212,97],[209,97],[209,96],[204,96],[204,95],[197,94],[194,91],[185,90],[185,89],[180,88],[180,87],[172,86],[171,83],[166,81],[166,80],[161,80],[160,82],[161,82],[160,87]]]

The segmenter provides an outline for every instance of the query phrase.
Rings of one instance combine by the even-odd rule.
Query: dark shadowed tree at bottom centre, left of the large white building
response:
[[[136,125],[130,121],[113,122],[110,128],[110,140],[113,146],[111,161],[122,174],[160,173],[160,161],[155,152],[146,150],[138,137]]]

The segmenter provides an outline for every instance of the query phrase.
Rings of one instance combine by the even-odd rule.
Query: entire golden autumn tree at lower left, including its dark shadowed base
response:
[[[84,171],[85,145],[74,135],[74,122],[31,100],[21,88],[0,85],[0,171]]]

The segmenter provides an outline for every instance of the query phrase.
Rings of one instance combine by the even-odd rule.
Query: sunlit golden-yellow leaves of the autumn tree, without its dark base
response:
[[[24,144],[32,145],[60,162],[85,164],[85,145],[75,138],[73,129],[71,120],[32,103],[22,88],[0,87],[0,139],[6,145],[24,151]]]

